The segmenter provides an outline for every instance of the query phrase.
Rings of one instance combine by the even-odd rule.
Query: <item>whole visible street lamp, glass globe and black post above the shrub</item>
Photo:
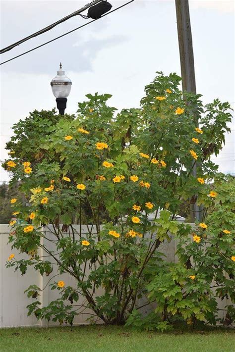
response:
[[[59,71],[57,71],[57,76],[51,81],[52,93],[56,97],[57,108],[60,115],[64,115],[64,110],[66,109],[67,97],[71,91],[71,80],[65,76],[62,70],[62,65],[60,62]]]

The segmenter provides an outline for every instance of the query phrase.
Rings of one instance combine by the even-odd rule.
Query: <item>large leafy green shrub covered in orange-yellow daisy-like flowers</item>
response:
[[[189,323],[215,322],[215,298],[235,299],[234,180],[225,183],[210,159],[229,131],[230,106],[215,100],[203,107],[200,95],[183,100],[179,81],[176,74],[158,73],[145,88],[141,108],[116,113],[107,105],[111,95],[88,94],[76,116],[34,111],[14,125],[3,166],[12,175],[11,187],[20,182],[28,205],[10,201],[17,221],[11,223],[9,242],[29,257],[9,257],[7,266],[22,274],[33,266],[50,275],[52,262],[58,264],[51,288],[60,298],[42,307],[40,289],[30,286],[28,297],[36,301],[29,314],[72,323],[87,306],[107,324],[123,324],[127,317],[130,323],[140,317],[138,299],[148,295],[149,302],[157,302],[154,319],[164,329],[174,315]],[[195,202],[201,205],[201,222],[195,228],[179,225],[176,214]],[[85,235],[81,226],[75,230],[76,220],[90,225]],[[41,228],[49,224],[53,230],[47,238]],[[178,264],[166,262],[159,251],[171,241],[170,233],[178,239]],[[75,287],[61,280],[65,272]],[[77,309],[73,302],[78,300]],[[227,317],[232,316],[230,305]]]

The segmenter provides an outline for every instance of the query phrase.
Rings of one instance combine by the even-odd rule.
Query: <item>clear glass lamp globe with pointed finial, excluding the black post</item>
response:
[[[57,76],[51,81],[52,93],[56,98],[67,98],[71,91],[71,80],[65,75],[60,62]]]

